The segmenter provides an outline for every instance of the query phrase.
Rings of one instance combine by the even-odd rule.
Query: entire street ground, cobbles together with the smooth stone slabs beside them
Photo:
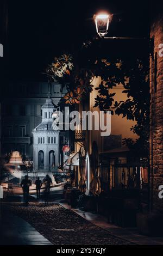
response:
[[[1,244],[163,245],[162,237],[144,236],[136,228],[117,227],[102,215],[71,208],[59,188],[51,191],[48,206],[43,202],[35,194],[30,196],[29,206],[23,205],[20,193],[5,198]]]

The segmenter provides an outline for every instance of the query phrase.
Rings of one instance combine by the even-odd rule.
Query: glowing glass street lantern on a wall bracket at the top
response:
[[[105,36],[109,27],[110,15],[107,13],[99,13],[94,17],[95,17],[97,34],[100,35],[101,37]]]

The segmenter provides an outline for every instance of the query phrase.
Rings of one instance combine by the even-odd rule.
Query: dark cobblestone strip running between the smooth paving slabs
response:
[[[6,208],[32,224],[53,245],[133,245],[59,204],[10,204]]]

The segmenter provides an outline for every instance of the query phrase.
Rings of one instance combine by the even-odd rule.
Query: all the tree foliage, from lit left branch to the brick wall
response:
[[[68,85],[69,92],[64,96],[65,103],[79,104],[92,92],[92,81],[101,77],[101,84],[96,90],[98,95],[95,106],[101,111],[111,111],[111,114],[122,115],[128,120],[135,120],[136,125],[131,130],[140,136],[136,143],[132,139],[124,139],[133,151],[142,149],[145,155],[149,147],[149,75],[148,65],[141,60],[111,60],[86,59],[82,66],[72,61],[72,56],[62,55],[55,58],[55,62],[48,66],[46,74],[52,80]],[[84,66],[84,68],[83,68]],[[114,100],[115,92],[110,92],[118,86],[124,87],[122,93],[127,100]],[[141,152],[141,151],[139,151]]]

